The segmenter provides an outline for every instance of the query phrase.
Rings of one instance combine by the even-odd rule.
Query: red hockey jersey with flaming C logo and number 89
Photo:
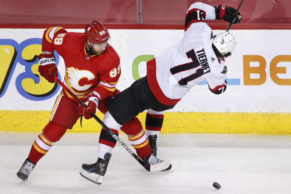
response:
[[[56,50],[65,62],[64,84],[79,98],[96,91],[100,99],[112,95],[120,77],[120,59],[110,46],[102,55],[88,55],[85,33],[67,32],[61,27],[46,29],[42,38],[42,51]],[[75,99],[69,92],[64,95]]]

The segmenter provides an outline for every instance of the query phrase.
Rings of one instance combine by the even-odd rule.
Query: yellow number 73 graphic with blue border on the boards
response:
[[[17,75],[15,86],[20,95],[26,99],[40,101],[51,98],[59,91],[57,83],[49,83],[38,73],[38,55],[42,53],[42,39],[29,38],[18,44],[12,39],[0,39],[0,98],[5,94],[11,83],[16,65],[23,65],[24,72]],[[54,52],[56,66],[59,54]],[[59,76],[60,77],[60,76]]]

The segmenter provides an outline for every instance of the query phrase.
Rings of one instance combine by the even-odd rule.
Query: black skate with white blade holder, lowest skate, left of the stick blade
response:
[[[94,164],[83,164],[80,175],[89,181],[98,185],[102,183],[102,177],[106,173],[106,169],[112,154],[106,153],[104,159],[98,158]]]

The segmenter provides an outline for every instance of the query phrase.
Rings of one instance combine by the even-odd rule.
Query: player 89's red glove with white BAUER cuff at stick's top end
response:
[[[58,77],[58,68],[55,66],[55,57],[53,54],[40,54],[38,55],[38,59],[40,64],[38,66],[39,74],[50,83],[54,83],[54,73],[55,76]]]

